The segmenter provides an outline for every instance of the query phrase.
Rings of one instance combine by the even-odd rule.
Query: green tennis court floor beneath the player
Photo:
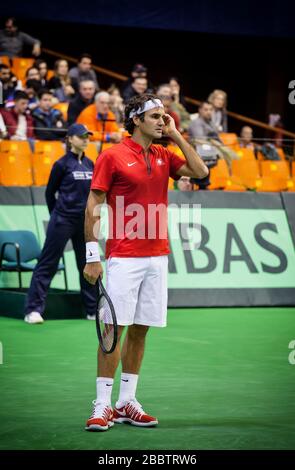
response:
[[[94,322],[2,317],[0,449],[294,449],[293,339],[295,308],[170,310],[149,333],[137,395],[159,426],[87,433]]]

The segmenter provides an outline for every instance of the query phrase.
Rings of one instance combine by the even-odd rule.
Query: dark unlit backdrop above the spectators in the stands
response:
[[[294,6],[287,9],[284,0],[256,2],[256,6],[253,0],[241,5],[233,0],[226,4],[184,0],[181,12],[168,8],[165,1],[152,11],[154,1],[149,2],[149,10],[132,0],[120,2],[115,10],[113,0],[96,0],[91,4],[92,16],[76,0],[61,2],[59,10],[55,1],[35,9],[36,1],[22,7],[17,3],[9,11],[18,14],[20,29],[41,39],[46,48],[74,57],[89,52],[96,65],[125,75],[134,63],[144,63],[152,83],[176,75],[184,94],[199,100],[221,88],[228,93],[230,111],[264,122],[269,113],[278,113],[284,127],[295,131],[295,105],[288,102],[288,84],[295,79],[295,28],[290,10]],[[161,29],[153,28],[157,24]],[[53,62],[50,58],[50,66]],[[98,79],[102,88],[114,81],[103,75]],[[238,132],[242,123],[230,120],[229,125]],[[254,130],[256,137],[266,137],[264,130]]]

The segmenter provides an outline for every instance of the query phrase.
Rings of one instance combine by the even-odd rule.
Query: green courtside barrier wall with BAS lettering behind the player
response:
[[[44,189],[1,187],[0,230],[31,230],[42,245]],[[295,194],[170,192],[169,238],[170,307],[295,305]],[[69,289],[79,290],[71,242],[65,262]],[[0,274],[0,288],[17,285],[16,274]],[[52,287],[64,288],[62,274]]]

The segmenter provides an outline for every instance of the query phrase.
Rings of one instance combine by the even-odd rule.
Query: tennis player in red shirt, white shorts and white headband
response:
[[[97,159],[86,207],[86,266],[84,276],[95,284],[102,276],[98,253],[97,207],[106,198],[109,238],[106,244],[107,291],[118,322],[118,343],[111,354],[98,351],[97,398],[86,423],[90,431],[104,431],[115,423],[155,426],[135,398],[144,344],[150,326],[166,326],[167,316],[167,189],[169,176],[203,178],[208,169],[184,140],[174,120],[152,94],[132,98],[125,109],[125,128],[132,135]],[[172,139],[186,161],[153,139]],[[95,211],[96,209],[96,211]],[[95,215],[94,215],[95,214]],[[135,215],[134,215],[135,214]],[[120,350],[120,336],[127,334]],[[119,399],[111,407],[113,378],[122,361]]]

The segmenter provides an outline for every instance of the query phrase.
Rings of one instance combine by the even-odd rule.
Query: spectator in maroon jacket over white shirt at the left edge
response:
[[[14,102],[13,108],[1,111],[9,138],[11,140],[33,139],[33,119],[27,111],[28,95],[24,91],[17,91]]]

